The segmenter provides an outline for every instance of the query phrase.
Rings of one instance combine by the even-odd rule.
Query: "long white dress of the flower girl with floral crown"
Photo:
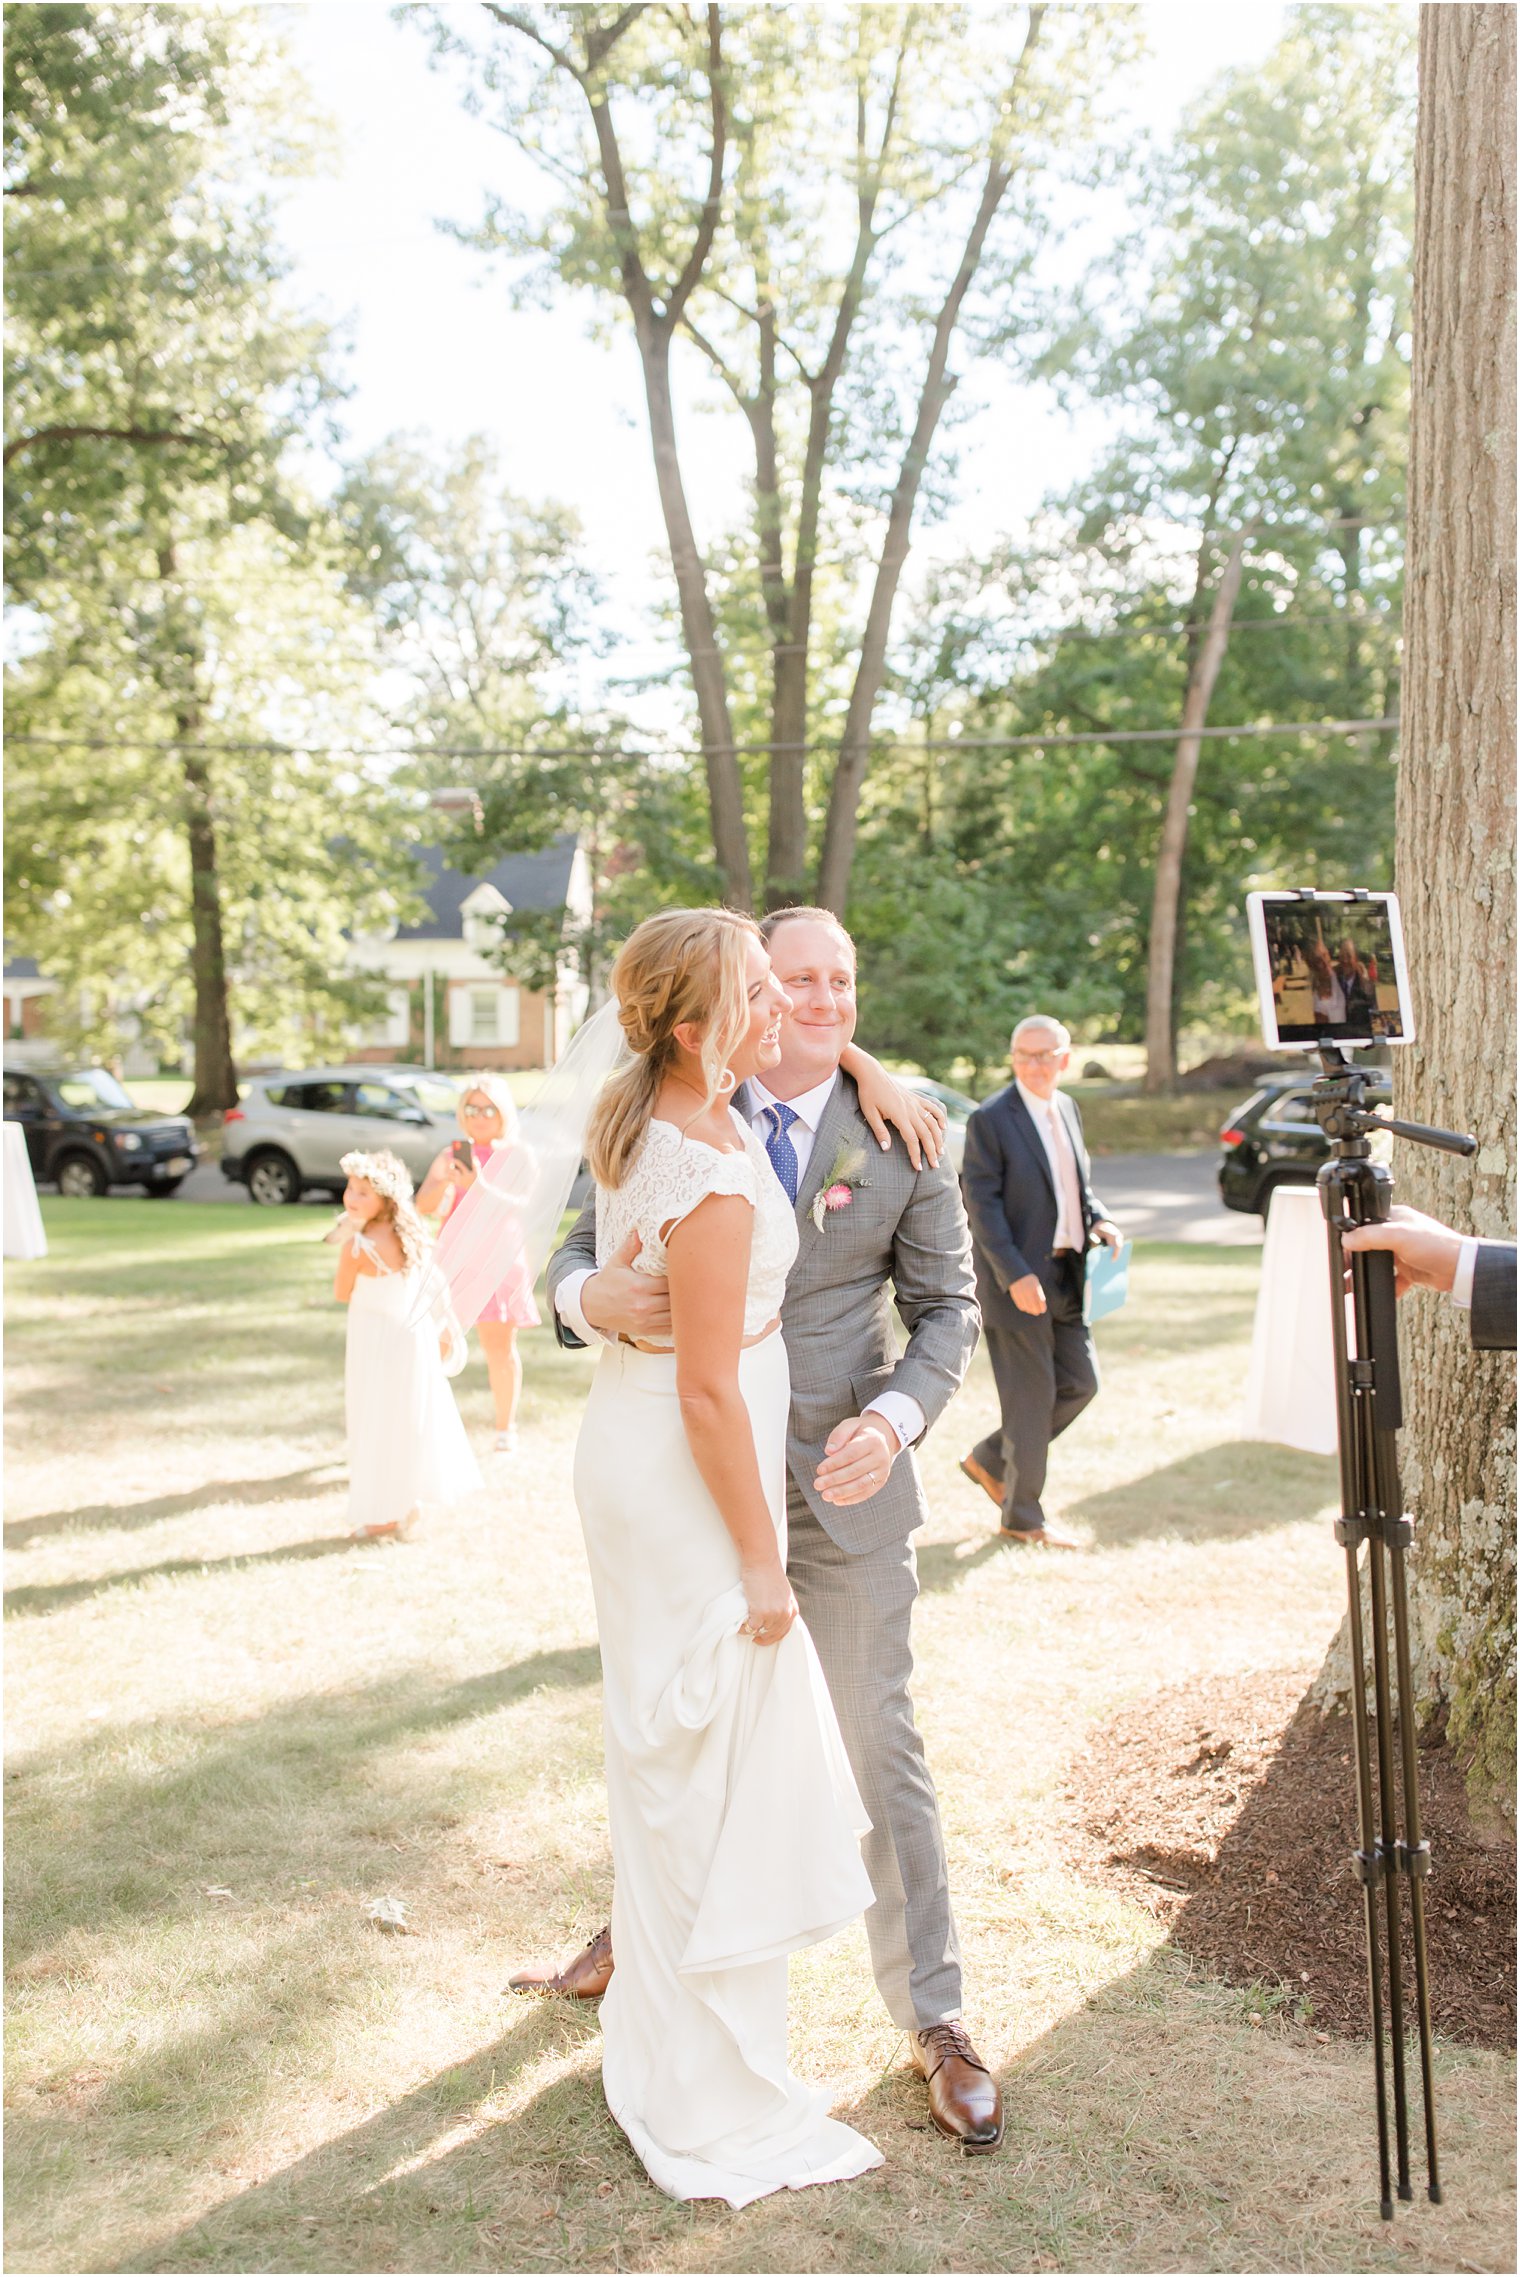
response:
[[[387,1266],[350,1234],[360,1273],[348,1298],[348,1523],[400,1526],[421,1503],[457,1503],[480,1487],[464,1423],[439,1357],[437,1321],[412,1323],[419,1271]]]

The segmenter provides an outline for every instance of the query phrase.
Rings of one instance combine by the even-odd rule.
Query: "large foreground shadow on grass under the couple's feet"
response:
[[[1292,2238],[1292,2211],[1263,2216],[1263,2184],[1272,2163],[1320,2186],[1338,2172],[1327,2156],[1340,2159],[1345,2068],[1327,2056],[1306,2081],[1302,2054],[1283,2063],[1267,2036],[1242,2029],[1242,2006],[1220,1992],[1199,1999],[1170,1956],[1133,1967],[1001,2068],[1008,2136],[992,2159],[963,2159],[933,2131],[899,2049],[842,2113],[885,2165],[742,2213],[660,2197],[605,2111],[592,2020],[539,2008],[269,2181],[139,2247],[132,2268],[1288,2266],[1263,2259],[1263,2220],[1267,2250]],[[494,2120],[491,2099],[535,2070],[551,2074],[539,2093]],[[1240,2109],[1261,2097],[1256,2131],[1270,2136],[1242,2218],[1220,2097]],[[1140,2113],[1147,2124],[1135,2127]]]

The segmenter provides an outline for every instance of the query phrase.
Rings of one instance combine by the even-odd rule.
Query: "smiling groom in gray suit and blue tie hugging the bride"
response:
[[[801,1246],[780,1323],[792,1366],[787,1578],[812,1630],[856,1785],[871,1817],[862,1856],[876,1901],[871,1965],[892,2022],[928,2081],[928,2109],[965,2149],[997,2149],[999,2086],[960,2027],[960,1947],[944,1835],[912,1721],[908,1624],[912,1535],[926,1519],[912,1446],[960,1389],[976,1348],[972,1241],[949,1166],[915,1170],[883,1150],[840,1054],[856,1029],[856,947],[826,909],[762,924],[792,1000],[780,1061],[737,1095],[787,1198]],[[662,1341],[662,1280],[623,1259],[596,1271],[589,1202],[548,1264],[555,1334]],[[894,1350],[892,1300],[908,1327]],[[523,1992],[592,1999],[612,1974],[603,1931],[562,1974],[528,1970]]]

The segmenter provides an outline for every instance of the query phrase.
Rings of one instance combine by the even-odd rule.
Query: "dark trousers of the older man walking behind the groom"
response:
[[[1051,1439],[1097,1394],[1092,1330],[1081,1316],[1081,1271],[1060,1259],[1044,1298],[1049,1312],[1015,1312],[1010,1325],[988,1321],[981,1332],[1001,1430],[988,1432],[972,1455],[1003,1482],[1003,1526],[1019,1532],[1044,1526],[1040,1496]]]

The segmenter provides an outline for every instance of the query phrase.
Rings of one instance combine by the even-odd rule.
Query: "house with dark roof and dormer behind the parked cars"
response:
[[[448,795],[437,799],[448,804]],[[523,988],[491,954],[498,920],[512,911],[564,911],[587,918],[592,877],[573,833],[553,838],[539,854],[507,854],[489,870],[466,874],[444,863],[439,847],[421,847],[421,924],[403,924],[385,940],[355,940],[362,972],[389,981],[389,1006],[353,1052],[364,1061],[400,1054],[426,1068],[551,1068],[585,1013],[585,984],[564,956],[553,990]]]

